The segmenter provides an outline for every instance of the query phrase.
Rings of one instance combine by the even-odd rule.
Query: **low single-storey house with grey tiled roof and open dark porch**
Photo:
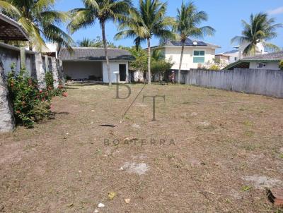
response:
[[[116,82],[115,73],[120,73],[120,82],[129,80],[129,61],[134,57],[125,49],[108,48],[111,82]],[[96,80],[109,83],[103,48],[74,47],[73,51],[63,48],[59,52],[64,75],[72,80]]]

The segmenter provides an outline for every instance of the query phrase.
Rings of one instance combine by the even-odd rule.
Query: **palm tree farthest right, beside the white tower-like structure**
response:
[[[282,24],[275,24],[275,18],[268,18],[267,13],[258,13],[250,15],[250,23],[242,20],[243,31],[241,36],[231,39],[231,42],[248,44],[243,50],[244,55],[255,55],[257,44],[262,44],[272,50],[279,51],[279,47],[267,43],[270,39],[277,37],[276,30],[282,28]]]

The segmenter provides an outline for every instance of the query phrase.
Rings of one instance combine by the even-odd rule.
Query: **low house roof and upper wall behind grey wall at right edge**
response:
[[[233,70],[233,68],[250,68],[279,70],[279,61],[283,60],[283,51],[276,51],[270,54],[260,54],[253,57],[246,57],[229,64],[225,70]]]

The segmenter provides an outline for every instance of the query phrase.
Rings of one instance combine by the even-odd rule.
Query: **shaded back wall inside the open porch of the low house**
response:
[[[63,61],[65,75],[72,79],[88,79],[90,75],[97,78],[103,77],[102,62],[97,61]]]

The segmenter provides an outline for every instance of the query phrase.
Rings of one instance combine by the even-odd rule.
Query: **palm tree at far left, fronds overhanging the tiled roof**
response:
[[[69,20],[68,13],[54,11],[55,0],[0,0],[3,13],[20,23],[30,37],[30,49],[42,51],[45,40],[71,48],[73,40],[58,26]]]

